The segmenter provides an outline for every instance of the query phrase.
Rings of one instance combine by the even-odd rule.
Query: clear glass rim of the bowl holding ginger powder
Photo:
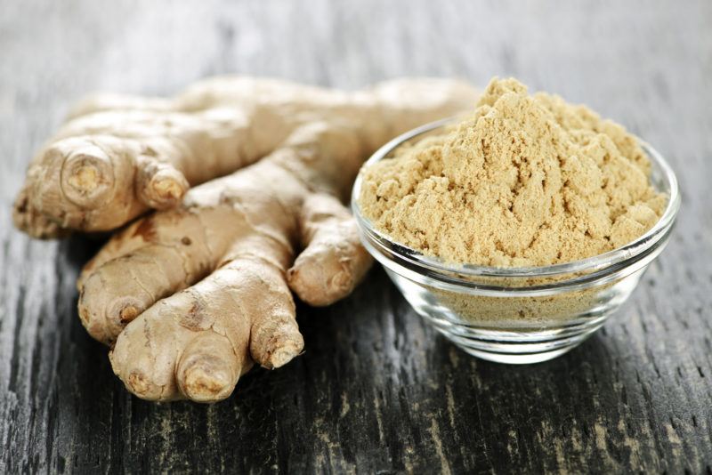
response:
[[[356,218],[358,227],[361,233],[365,233],[368,238],[375,239],[382,246],[387,247],[393,254],[396,254],[402,260],[415,264],[417,267],[422,267],[437,274],[449,276],[448,280],[452,279],[452,274],[464,278],[477,277],[497,277],[497,278],[556,278],[577,273],[590,273],[592,271],[603,270],[621,262],[634,259],[643,254],[645,251],[658,243],[662,238],[668,236],[668,231],[675,222],[677,212],[680,209],[681,197],[677,183],[676,174],[672,167],[667,163],[667,160],[652,146],[636,136],[643,151],[648,155],[651,163],[659,168],[661,178],[667,182],[669,188],[667,205],[660,219],[648,229],[643,236],[628,243],[626,246],[619,247],[612,251],[603,254],[598,254],[578,261],[563,262],[548,266],[528,266],[528,267],[493,267],[481,266],[475,264],[449,264],[438,257],[432,257],[421,254],[416,249],[402,245],[397,241],[392,240],[386,234],[374,228],[369,221],[360,212],[359,196],[361,189],[363,170],[375,164],[376,162],[388,157],[391,152],[401,146],[406,141],[417,138],[425,133],[433,132],[438,128],[446,125],[457,124],[458,117],[447,117],[429,124],[421,125],[409,132],[402,133],[398,137],[385,143],[380,149],[377,149],[374,154],[361,166],[360,172],[354,181],[352,188],[351,207],[352,213]],[[363,238],[363,236],[362,236]],[[367,246],[367,248],[370,246]],[[459,279],[458,279],[459,280]],[[470,281],[471,282],[471,281]]]

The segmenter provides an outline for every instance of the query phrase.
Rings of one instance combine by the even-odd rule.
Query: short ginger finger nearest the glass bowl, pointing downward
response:
[[[313,194],[300,213],[304,250],[287,274],[303,302],[330,305],[351,294],[371,266],[352,215],[335,197]]]

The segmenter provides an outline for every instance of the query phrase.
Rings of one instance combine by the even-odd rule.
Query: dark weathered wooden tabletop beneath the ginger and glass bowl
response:
[[[352,87],[520,77],[674,165],[667,250],[603,331],[500,366],[424,326],[384,272],[300,306],[306,353],[214,406],[131,397],[80,325],[97,244],[12,229],[29,157],[93,90],[239,72]],[[712,2],[0,2],[0,472],[712,473]]]

